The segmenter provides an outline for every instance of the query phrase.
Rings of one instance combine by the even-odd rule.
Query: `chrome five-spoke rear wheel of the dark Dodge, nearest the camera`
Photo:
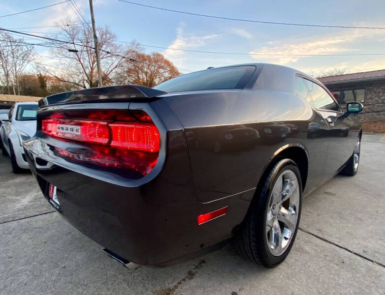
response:
[[[266,239],[270,253],[279,256],[288,248],[299,213],[300,188],[292,170],[284,170],[274,183],[266,214]]]

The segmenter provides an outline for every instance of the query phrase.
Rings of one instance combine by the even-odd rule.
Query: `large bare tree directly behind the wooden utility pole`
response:
[[[61,70],[52,70],[46,67],[48,74],[59,81],[70,83],[77,88],[97,87],[96,55],[94,48],[93,32],[87,24],[83,26],[68,26],[68,21],[61,25],[61,40],[56,42],[57,48],[51,50],[52,59],[60,59],[58,63]],[[111,75],[119,69],[125,58],[139,50],[139,45],[132,41],[131,45],[121,45],[116,42],[116,35],[107,27],[97,29],[100,64],[103,85],[112,83]],[[69,51],[71,50],[71,52]]]

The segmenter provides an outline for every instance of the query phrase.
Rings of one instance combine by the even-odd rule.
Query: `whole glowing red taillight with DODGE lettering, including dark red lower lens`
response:
[[[107,110],[73,114],[79,115],[82,118],[58,118],[54,114],[41,121],[41,130],[49,136],[92,144],[87,151],[56,148],[59,155],[101,166],[131,168],[142,175],[154,168],[160,134],[147,113]]]

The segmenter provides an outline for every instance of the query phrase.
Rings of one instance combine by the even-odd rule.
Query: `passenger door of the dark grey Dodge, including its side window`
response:
[[[328,125],[326,164],[323,181],[333,177],[353,153],[355,132],[351,132],[354,122],[344,113],[334,98],[320,84],[307,80],[314,108],[321,114]]]

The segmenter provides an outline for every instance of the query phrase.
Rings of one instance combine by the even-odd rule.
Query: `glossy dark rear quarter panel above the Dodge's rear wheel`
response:
[[[324,157],[319,153],[325,155],[327,141],[307,135],[313,121],[319,120],[321,129],[327,126],[296,95],[267,90],[197,91],[164,100],[185,129],[199,201],[255,188],[274,153],[291,144],[310,148],[310,187],[317,185],[312,179],[322,175]]]

